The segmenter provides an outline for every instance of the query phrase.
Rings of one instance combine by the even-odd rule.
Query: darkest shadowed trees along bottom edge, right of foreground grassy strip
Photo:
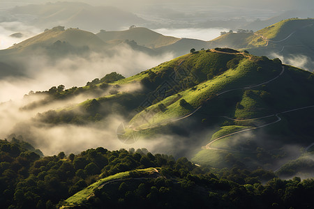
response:
[[[167,169],[160,171],[162,175]],[[205,175],[124,180],[96,190],[87,207],[101,208],[311,208],[314,180],[274,178],[266,185],[238,184]]]

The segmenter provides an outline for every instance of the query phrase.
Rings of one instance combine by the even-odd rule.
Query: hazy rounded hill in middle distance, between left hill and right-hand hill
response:
[[[142,27],[135,27],[126,31],[100,31],[96,35],[105,42],[115,39],[135,40],[138,45],[150,48],[170,45],[180,40],[171,36],[163,36],[160,33]]]

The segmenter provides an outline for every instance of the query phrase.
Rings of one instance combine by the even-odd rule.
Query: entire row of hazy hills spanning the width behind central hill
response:
[[[125,31],[105,31],[97,34],[82,31],[80,29],[64,29],[57,26],[46,29],[44,33],[24,40],[12,47],[0,51],[0,62],[4,66],[0,75],[21,75],[24,70],[18,63],[17,56],[31,56],[40,50],[40,54],[48,54],[48,57],[64,57],[66,54],[86,56],[90,52],[112,54],[112,47],[128,45],[135,51],[150,55],[172,53],[181,56],[190,49],[209,49],[216,47],[230,47],[239,50],[247,50],[257,56],[283,56],[287,63],[295,56],[303,56],[308,63],[302,63],[301,67],[313,70],[311,61],[314,61],[313,49],[314,34],[313,19],[289,19],[274,25],[252,32],[240,30],[238,33],[226,32],[224,35],[210,41],[190,38],[175,38],[163,36],[146,28],[136,27]],[[35,50],[36,49],[36,50]],[[297,63],[295,63],[297,65]],[[6,70],[10,69],[10,70]]]

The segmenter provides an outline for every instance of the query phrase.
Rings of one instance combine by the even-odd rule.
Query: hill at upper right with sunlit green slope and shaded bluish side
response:
[[[313,61],[313,24],[313,19],[292,18],[255,33],[226,33],[209,41],[209,47],[246,49],[257,56],[283,56],[286,60],[305,56]],[[311,64],[304,67],[313,70]]]

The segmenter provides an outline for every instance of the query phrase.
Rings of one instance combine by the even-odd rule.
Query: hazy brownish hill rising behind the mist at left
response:
[[[162,36],[162,35],[160,35]],[[110,57],[122,49],[133,49],[150,56],[159,55],[154,49],[137,45],[132,40],[110,40],[103,41],[96,34],[80,29],[65,29],[64,26],[55,26],[52,29],[45,29],[38,34],[19,42],[8,49],[0,50],[0,75],[2,77],[26,76],[29,61],[39,56],[54,63],[58,59],[71,59],[71,56],[89,59],[91,54]]]

